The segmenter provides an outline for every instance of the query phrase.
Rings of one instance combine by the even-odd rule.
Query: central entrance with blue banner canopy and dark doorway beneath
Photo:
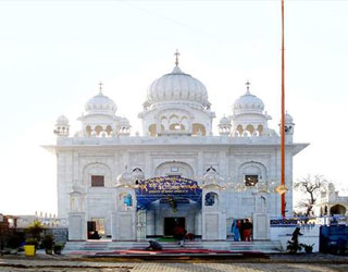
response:
[[[201,188],[196,181],[161,176],[140,181],[137,208],[146,211],[146,236],[173,236],[176,225],[201,235]]]

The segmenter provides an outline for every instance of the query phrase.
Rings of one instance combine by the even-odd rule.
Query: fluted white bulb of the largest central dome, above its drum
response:
[[[148,102],[191,101],[209,104],[206,86],[178,66],[173,72],[156,79],[148,88]]]

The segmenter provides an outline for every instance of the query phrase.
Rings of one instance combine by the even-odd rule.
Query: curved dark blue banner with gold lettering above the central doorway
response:
[[[196,181],[182,176],[159,176],[140,181],[136,189],[137,206],[147,209],[159,199],[191,199],[200,202],[202,195]]]

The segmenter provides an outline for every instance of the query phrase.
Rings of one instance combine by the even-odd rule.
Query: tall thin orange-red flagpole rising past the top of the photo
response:
[[[282,0],[282,123],[281,123],[281,150],[282,150],[282,185],[285,186],[285,48],[284,48],[284,0]],[[282,194],[282,217],[285,218],[285,194]]]

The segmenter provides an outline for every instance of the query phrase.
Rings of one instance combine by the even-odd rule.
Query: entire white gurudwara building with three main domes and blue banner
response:
[[[70,240],[98,231],[113,240],[171,236],[176,225],[203,240],[224,240],[233,219],[251,219],[254,239],[270,239],[270,218],[281,217],[281,138],[247,83],[213,134],[215,113],[204,85],[177,65],[156,79],[139,113],[142,134],[102,94],[90,98],[70,136],[60,116],[57,144],[58,217]],[[293,141],[286,114],[286,214],[293,214]]]

